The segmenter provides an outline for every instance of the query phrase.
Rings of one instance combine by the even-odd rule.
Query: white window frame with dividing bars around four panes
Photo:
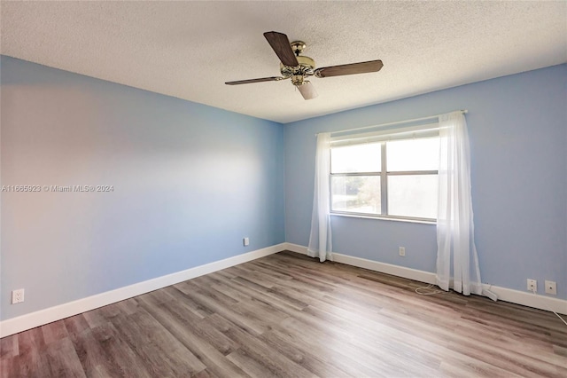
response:
[[[425,175],[439,175],[439,170],[400,170],[388,171],[387,170],[387,142],[392,140],[408,140],[418,138],[439,138],[439,125],[427,124],[417,127],[410,127],[398,130],[382,130],[378,132],[343,136],[338,138],[331,138],[330,147],[330,174],[329,174],[329,190],[330,190],[330,215],[346,216],[346,217],[369,217],[377,219],[387,219],[405,222],[417,222],[436,224],[436,218],[426,217],[407,217],[391,215],[388,212],[388,177],[391,176],[425,176]],[[381,154],[381,167],[380,171],[376,172],[342,172],[332,173],[332,149],[340,146],[356,146],[367,143],[379,143]],[[335,146],[333,146],[335,144]],[[332,178],[333,177],[357,177],[357,176],[377,176],[380,177],[380,210],[381,213],[362,213],[356,211],[345,211],[333,209],[333,193],[332,193]]]

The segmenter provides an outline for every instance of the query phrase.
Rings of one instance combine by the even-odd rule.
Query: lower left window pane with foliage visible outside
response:
[[[333,176],[330,185],[332,210],[381,213],[379,176]]]

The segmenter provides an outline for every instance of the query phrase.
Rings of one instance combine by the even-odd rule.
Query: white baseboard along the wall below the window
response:
[[[287,250],[302,255],[307,255],[307,247],[298,244],[283,243]],[[357,266],[359,268],[368,269],[374,272],[392,274],[393,276],[403,277],[409,280],[416,280],[427,284],[435,284],[435,273],[418,271],[416,269],[406,268],[404,266],[379,263],[377,261],[365,258],[342,255],[333,253],[333,261],[336,263]],[[534,295],[529,292],[514,290],[506,287],[496,287],[493,285],[483,284],[484,289],[489,289],[498,296],[498,300],[522,304],[524,306],[533,307],[535,309],[545,311],[555,311],[567,314],[567,301],[563,299],[552,298],[544,295]]]

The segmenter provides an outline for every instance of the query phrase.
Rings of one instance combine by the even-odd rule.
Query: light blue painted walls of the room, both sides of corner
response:
[[[542,293],[555,280],[567,299],[566,65],[285,126],[18,59],[0,69],[2,185],[114,185],[2,193],[0,319],[284,240],[307,245],[316,132],[460,108],[483,281],[524,290],[532,278]],[[332,222],[339,253],[434,270],[433,225]],[[9,304],[20,287],[26,302]]]

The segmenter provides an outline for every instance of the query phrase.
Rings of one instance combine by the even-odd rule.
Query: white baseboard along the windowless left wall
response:
[[[88,296],[73,302],[59,304],[48,309],[35,311],[12,319],[0,321],[0,337],[17,334],[34,327],[43,326],[56,320],[65,319],[85,311],[97,309],[111,303],[123,301],[136,295],[149,293],[162,287],[194,279],[204,274],[220,271],[237,264],[247,263],[257,258],[283,251],[286,243],[258,249],[242,255],[225,258],[214,263],[196,266],[182,272],[167,274],[152,280],[146,280],[127,287],[120,287],[105,293]]]

